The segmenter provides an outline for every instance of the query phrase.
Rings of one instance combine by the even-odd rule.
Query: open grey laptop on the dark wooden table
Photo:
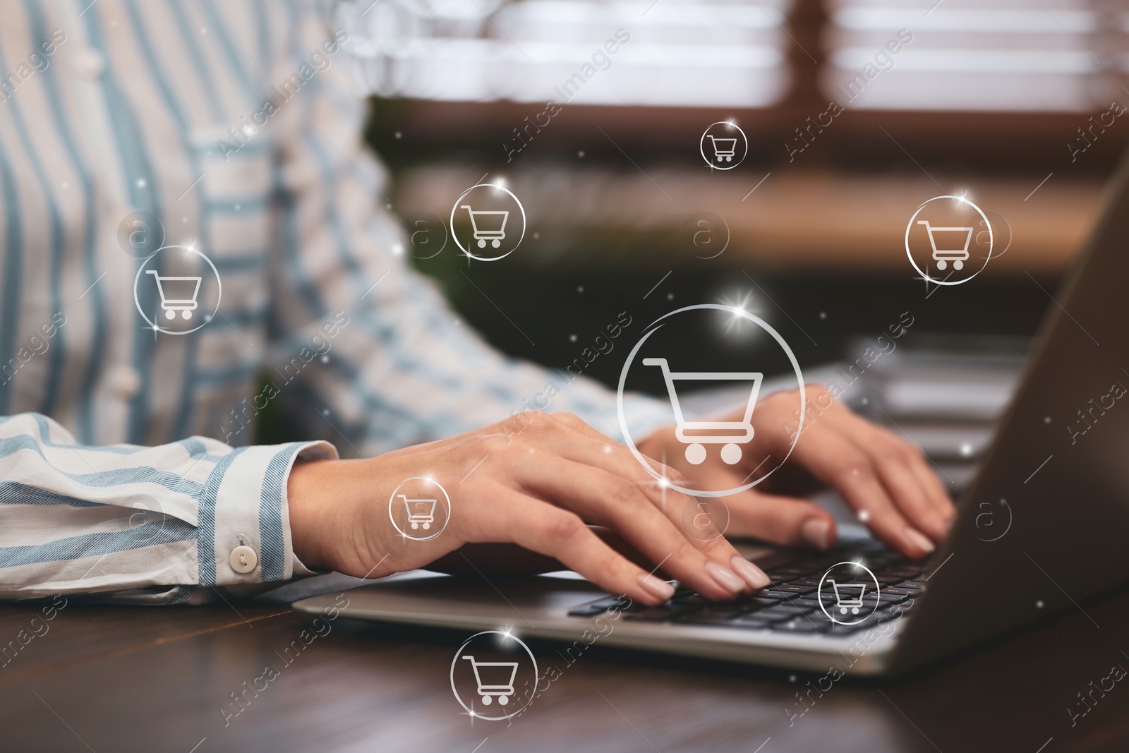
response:
[[[349,590],[341,613],[887,676],[1060,610],[1085,613],[1087,597],[1129,579],[1127,240],[1129,152],[963,484],[949,535],[928,561],[865,540],[816,554],[762,549],[751,557],[772,579],[762,593],[716,604],[680,589],[649,608],[572,573],[488,580],[415,571]],[[841,562],[873,573],[858,578],[869,593],[844,598],[828,588],[829,569]],[[314,613],[340,606],[334,594],[295,603]],[[855,618],[860,607],[864,619]]]

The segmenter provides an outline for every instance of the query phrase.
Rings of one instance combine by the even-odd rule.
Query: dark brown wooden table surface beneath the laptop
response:
[[[7,605],[0,751],[1124,751],[1129,688],[1069,709],[1129,667],[1127,616],[1122,588],[902,680],[841,680],[790,720],[817,675],[595,645],[507,725],[455,701],[458,632],[340,618],[288,663],[315,618],[283,604]]]

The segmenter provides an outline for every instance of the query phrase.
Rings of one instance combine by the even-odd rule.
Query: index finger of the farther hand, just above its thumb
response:
[[[787,446],[781,444],[773,452],[784,456]],[[890,499],[869,457],[841,435],[830,430],[804,434],[793,454],[815,478],[835,489],[889,546],[913,559],[934,551],[933,542],[912,527]]]

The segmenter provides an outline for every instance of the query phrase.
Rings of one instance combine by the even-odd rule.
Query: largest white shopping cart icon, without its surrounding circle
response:
[[[753,406],[761,391],[760,371],[672,371],[665,358],[645,358],[644,366],[657,366],[663,369],[666,392],[671,395],[671,406],[674,409],[674,436],[686,445],[686,461],[698,465],[706,459],[703,445],[724,445],[721,459],[733,465],[741,459],[741,445],[753,438]],[[752,382],[753,386],[745,405],[745,413],[739,421],[688,421],[679,404],[679,393],[675,382],[682,380],[737,380]]]

